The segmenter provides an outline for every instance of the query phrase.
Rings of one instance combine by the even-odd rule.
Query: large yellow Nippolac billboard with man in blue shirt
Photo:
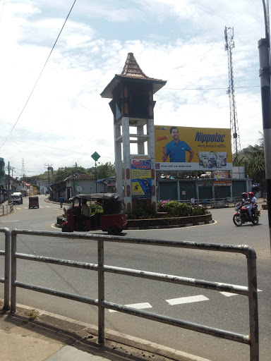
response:
[[[231,130],[155,126],[155,169],[160,171],[231,170]]]

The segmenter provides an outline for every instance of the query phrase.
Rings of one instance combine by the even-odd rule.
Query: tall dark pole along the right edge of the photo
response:
[[[271,99],[270,99],[270,21],[269,1],[265,6],[263,1],[263,13],[265,19],[265,39],[258,41],[260,60],[260,92],[262,98],[263,114],[263,144],[265,149],[265,179],[267,193],[268,223],[271,249]]]

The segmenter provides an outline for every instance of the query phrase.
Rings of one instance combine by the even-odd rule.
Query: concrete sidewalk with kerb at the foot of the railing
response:
[[[110,330],[102,348],[97,326],[22,305],[0,314],[0,338],[4,361],[209,361]]]

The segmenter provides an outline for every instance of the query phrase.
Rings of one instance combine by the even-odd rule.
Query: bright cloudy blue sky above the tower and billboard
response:
[[[19,176],[23,160],[28,176],[44,164],[93,166],[93,152],[114,162],[112,113],[100,93],[128,52],[145,74],[167,80],[155,94],[155,125],[229,128],[225,26],[234,27],[241,147],[257,143],[261,0],[77,0],[37,82],[72,5],[0,0],[0,157]]]

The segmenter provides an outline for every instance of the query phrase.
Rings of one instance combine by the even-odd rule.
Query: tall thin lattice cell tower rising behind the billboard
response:
[[[233,154],[235,154],[235,159],[238,152],[241,150],[240,137],[239,137],[239,127],[237,121],[237,112],[236,112],[236,102],[234,95],[234,68],[232,65],[232,49],[234,49],[234,28],[225,26],[225,50],[228,54],[228,68],[229,68],[229,112],[231,120],[231,149]]]

